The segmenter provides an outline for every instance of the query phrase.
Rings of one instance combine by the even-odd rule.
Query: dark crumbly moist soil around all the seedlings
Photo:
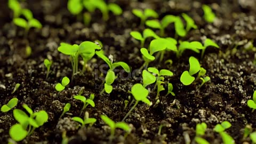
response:
[[[252,99],[256,85],[256,67],[254,65],[254,49],[248,45],[254,44],[256,38],[255,1],[109,1],[115,2],[123,9],[123,14],[105,22],[100,11],[92,16],[89,27],[83,25],[76,16],[67,10],[67,1],[62,0],[27,0],[22,5],[30,9],[34,17],[41,21],[43,28],[29,30],[24,37],[24,30],[12,22],[12,12],[7,7],[7,1],[1,3],[0,13],[0,106],[12,98],[18,98],[15,108],[23,109],[26,103],[34,111],[45,110],[49,120],[34,131],[30,137],[20,143],[61,143],[62,133],[67,132],[69,143],[195,143],[195,127],[197,123],[205,122],[207,130],[203,138],[210,143],[221,143],[220,135],[213,131],[216,124],[229,121],[232,126],[226,130],[236,143],[250,142],[243,138],[246,124],[256,127],[255,111],[247,106],[247,100]],[[217,15],[213,23],[207,23],[203,18],[202,4],[210,5]],[[57,49],[61,42],[79,44],[83,41],[102,42],[105,54],[113,55],[114,61],[124,61],[132,69],[139,69],[143,64],[139,41],[130,36],[130,31],[145,29],[140,26],[140,19],[132,14],[132,9],[151,8],[158,12],[159,19],[166,14],[181,15],[187,13],[195,20],[198,29],[190,30],[181,41],[202,42],[205,37],[213,39],[220,49],[207,48],[205,56],[186,51],[180,59],[172,52],[166,53],[162,62],[155,60],[150,67],[169,69],[174,76],[165,77],[165,91],[155,100],[156,90],[150,91],[148,99],[152,106],[139,102],[139,105],[125,119],[132,131],[124,137],[124,131],[117,129],[115,138],[109,142],[110,129],[101,120],[105,114],[115,122],[122,121],[131,107],[124,109],[124,101],[132,101],[129,93],[131,86],[142,83],[141,74],[116,73],[118,77],[113,83],[114,90],[110,94],[103,93],[100,66],[105,62],[94,56],[87,63],[85,73],[78,73],[65,90],[58,93],[54,86],[65,76],[71,78],[72,67],[67,55]],[[158,34],[158,31],[154,29]],[[165,30],[165,36],[174,37],[175,30],[171,24]],[[149,44],[146,41],[146,47]],[[26,45],[30,45],[32,53],[26,56]],[[180,82],[183,71],[189,69],[188,59],[193,55],[198,58],[210,82],[199,87],[201,81],[185,86]],[[49,78],[45,79],[46,68],[44,59],[53,61]],[[165,63],[171,59],[172,65]],[[81,59],[82,60],[82,59]],[[79,69],[82,65],[79,64]],[[105,74],[104,74],[105,75]],[[17,91],[12,93],[15,84],[20,83]],[[167,83],[173,84],[173,92],[165,96]],[[153,84],[154,86],[154,84]],[[83,89],[83,94],[89,98],[95,94],[95,107],[88,106],[86,111],[90,117],[97,119],[91,127],[81,129],[71,118],[79,116],[83,103],[73,97]],[[71,107],[68,114],[60,118],[66,103]],[[129,103],[130,105],[130,103]],[[24,109],[23,109],[24,110]],[[83,117],[83,116],[81,116]],[[9,129],[17,123],[12,110],[0,113],[0,141],[7,143]],[[161,123],[167,123],[161,134],[158,129]]]

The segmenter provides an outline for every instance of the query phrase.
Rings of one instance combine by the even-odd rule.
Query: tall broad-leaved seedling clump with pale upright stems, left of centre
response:
[[[84,66],[82,72],[84,72],[87,61],[92,59],[95,54],[95,50],[100,49],[101,47],[98,44],[90,41],[82,42],[80,45],[60,43],[60,46],[58,47],[59,52],[70,56],[71,65],[73,67],[72,78],[78,72],[78,56],[81,55],[83,58]]]

